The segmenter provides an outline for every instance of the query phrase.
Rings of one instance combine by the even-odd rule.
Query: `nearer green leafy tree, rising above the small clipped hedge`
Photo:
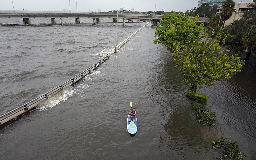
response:
[[[194,86],[194,92],[197,85],[204,84],[207,88],[217,81],[231,78],[237,72],[241,72],[244,60],[240,60],[238,54],[229,57],[223,54],[224,50],[220,50],[222,36],[230,35],[221,29],[215,40],[212,40],[207,37],[205,30],[200,39],[189,42],[180,52],[173,53],[175,67],[180,70],[184,84]],[[225,38],[221,43],[225,43]]]

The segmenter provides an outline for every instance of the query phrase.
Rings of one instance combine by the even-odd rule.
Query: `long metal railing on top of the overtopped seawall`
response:
[[[18,113],[19,111],[21,111],[21,110],[23,110],[23,109],[24,109],[24,110],[28,110],[28,107],[29,107],[29,106],[31,106],[31,105],[37,103],[38,101],[40,101],[40,100],[42,100],[42,99],[44,99],[44,98],[48,99],[48,96],[49,96],[49,95],[52,95],[52,94],[54,94],[55,92],[58,92],[59,90],[62,90],[62,89],[65,88],[65,87],[68,87],[69,85],[75,84],[75,81],[77,82],[79,79],[81,79],[82,77],[84,77],[84,76],[86,76],[87,74],[89,74],[92,70],[94,70],[95,68],[97,68],[97,67],[101,64],[102,61],[104,62],[105,60],[107,60],[107,59],[109,59],[109,58],[110,58],[109,55],[107,55],[106,57],[103,57],[102,60],[99,60],[98,62],[92,64],[92,66],[90,66],[89,68],[87,68],[87,69],[84,70],[83,72],[79,73],[79,74],[76,75],[75,77],[71,78],[71,79],[68,80],[67,82],[65,82],[65,83],[59,85],[58,87],[54,88],[53,90],[51,90],[51,91],[49,91],[49,92],[47,92],[47,93],[45,93],[45,94],[43,94],[43,95],[37,97],[37,98],[34,99],[34,100],[31,100],[31,101],[29,101],[28,103],[25,103],[25,104],[21,105],[20,107],[11,110],[11,111],[8,112],[8,113],[5,113],[4,115],[0,116],[0,121],[2,121],[2,120],[4,120],[4,119],[6,119],[6,118],[8,118],[8,117],[10,117],[10,116],[12,116],[12,115]],[[78,80],[77,80],[77,79],[78,79]],[[70,84],[70,83],[72,83],[72,84]],[[1,122],[0,122],[0,124],[1,124]]]

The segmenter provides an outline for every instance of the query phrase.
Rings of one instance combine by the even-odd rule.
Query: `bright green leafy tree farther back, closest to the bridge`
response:
[[[184,17],[181,14],[165,14],[160,21],[160,26],[157,25],[154,43],[165,44],[170,52],[182,50],[188,41],[199,38],[199,35],[203,33],[203,24],[197,26],[196,21],[198,21],[198,16],[191,21],[188,11]]]

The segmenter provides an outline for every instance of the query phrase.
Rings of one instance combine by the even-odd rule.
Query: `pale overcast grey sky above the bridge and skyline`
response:
[[[15,10],[22,11],[22,8],[28,11],[63,11],[69,10],[69,0],[0,0],[0,10],[13,10],[12,1]],[[88,12],[100,8],[101,12],[119,10],[135,11],[164,11],[164,12],[185,12],[197,6],[198,0],[70,0],[71,12],[76,12],[76,2],[78,12]],[[234,0],[238,3],[241,0]],[[251,0],[243,0],[251,2]]]

